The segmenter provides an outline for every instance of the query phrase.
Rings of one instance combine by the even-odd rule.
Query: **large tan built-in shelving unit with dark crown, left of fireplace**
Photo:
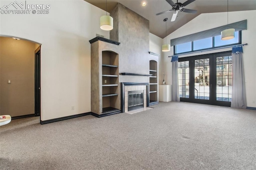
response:
[[[91,43],[91,114],[104,117],[121,113],[119,83],[120,42],[96,37]]]

